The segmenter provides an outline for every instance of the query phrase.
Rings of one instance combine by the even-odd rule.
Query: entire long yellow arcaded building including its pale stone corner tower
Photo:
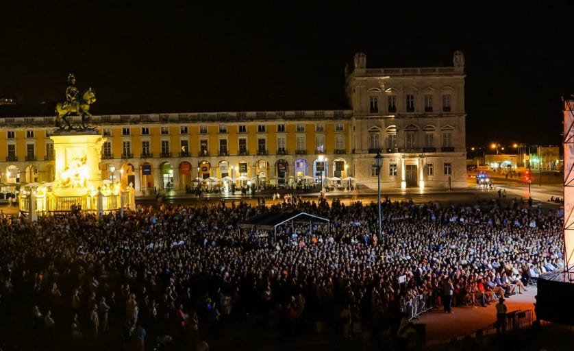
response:
[[[366,69],[355,56],[347,110],[97,114],[101,176],[136,194],[198,185],[466,186],[464,56],[454,66]],[[54,117],[0,106],[0,182],[52,182]],[[10,106],[14,108],[15,106]],[[71,117],[79,123],[79,117]]]

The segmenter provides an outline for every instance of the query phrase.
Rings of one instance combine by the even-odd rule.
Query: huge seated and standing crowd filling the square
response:
[[[240,229],[257,215],[290,211],[329,223],[288,223],[276,236]],[[238,321],[234,328],[272,330],[277,341],[308,325],[336,337],[361,332],[378,349],[401,337],[405,301],[424,295],[427,306],[445,304],[447,280],[454,304],[484,304],[563,267],[562,216],[515,202],[387,199],[379,235],[376,204],[325,199],[160,204],[33,223],[1,214],[0,341],[5,350],[21,342],[207,350],[225,339],[245,350],[240,334],[229,337],[237,331],[229,321]]]

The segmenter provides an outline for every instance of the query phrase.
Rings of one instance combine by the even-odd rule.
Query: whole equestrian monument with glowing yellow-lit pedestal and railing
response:
[[[20,210],[32,221],[38,214],[69,213],[78,209],[103,215],[127,206],[135,208],[134,189],[120,189],[120,184],[101,179],[101,147],[105,138],[98,130],[86,127],[91,116],[89,107],[95,102],[92,88],[79,95],[75,75],[68,75],[71,86],[66,89],[63,104],[56,108],[56,129],[50,137],[55,157],[55,179],[51,183],[32,183],[20,192]],[[79,114],[82,123],[73,126],[71,113]]]

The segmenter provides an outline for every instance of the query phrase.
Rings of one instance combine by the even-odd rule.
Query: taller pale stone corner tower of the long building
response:
[[[355,176],[377,187],[373,155],[381,152],[382,188],[466,186],[464,54],[453,66],[366,68],[355,55],[347,74]]]

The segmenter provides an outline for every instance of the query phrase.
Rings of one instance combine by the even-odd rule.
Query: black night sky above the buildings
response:
[[[74,72],[95,114],[348,108],[353,53],[368,67],[451,66],[460,49],[471,146],[561,143],[574,93],[573,5],[10,2],[0,96],[27,104],[62,101]]]

